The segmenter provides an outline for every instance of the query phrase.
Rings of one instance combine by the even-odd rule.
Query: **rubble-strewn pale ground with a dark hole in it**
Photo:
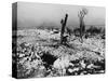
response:
[[[71,35],[59,44],[60,33],[41,29],[17,31],[17,78],[94,75],[105,72],[105,39]],[[17,62],[14,57],[17,56]]]

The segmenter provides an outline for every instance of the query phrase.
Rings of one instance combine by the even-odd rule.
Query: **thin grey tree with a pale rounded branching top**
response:
[[[78,12],[78,17],[80,19],[80,38],[81,38],[81,42],[83,42],[82,36],[85,32],[85,25],[84,25],[84,16],[87,14],[87,10],[86,9],[82,9]]]

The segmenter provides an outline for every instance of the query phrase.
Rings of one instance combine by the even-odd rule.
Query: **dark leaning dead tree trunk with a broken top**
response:
[[[66,23],[67,23],[67,18],[68,18],[68,14],[66,14],[65,19],[62,19],[60,24],[62,24],[62,30],[60,30],[60,44],[63,44],[64,40],[64,32],[65,32],[65,27],[66,27]]]

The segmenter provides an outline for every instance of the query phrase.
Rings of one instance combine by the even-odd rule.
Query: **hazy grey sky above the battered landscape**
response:
[[[40,25],[60,26],[60,19],[68,13],[67,26],[79,25],[78,11],[86,8],[89,13],[84,17],[85,25],[105,25],[105,8],[80,6],[66,4],[44,4],[18,2],[17,25],[18,27],[36,27]]]

